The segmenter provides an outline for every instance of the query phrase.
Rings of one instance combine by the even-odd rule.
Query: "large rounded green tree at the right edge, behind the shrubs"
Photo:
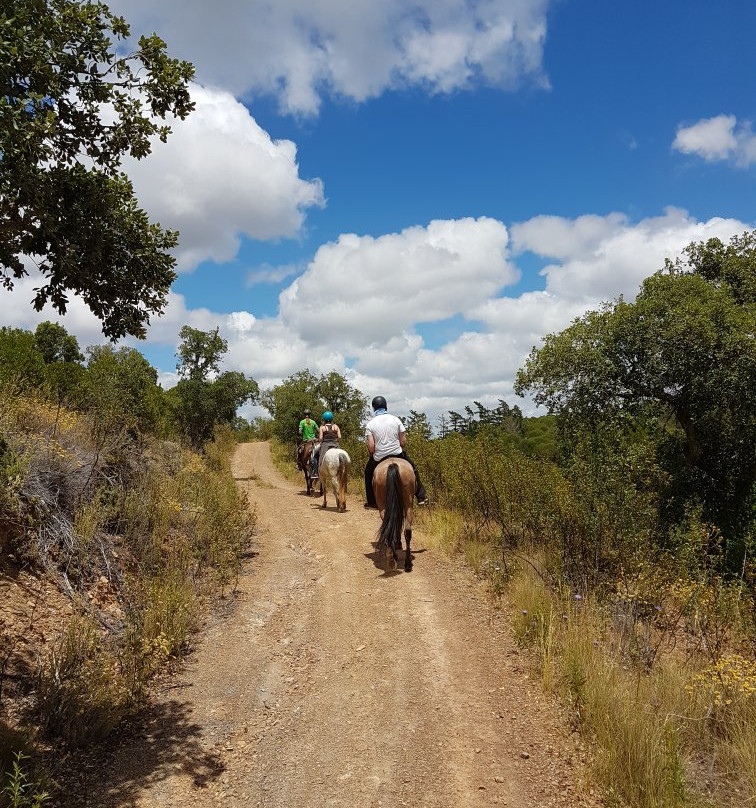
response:
[[[634,303],[620,299],[546,337],[516,389],[559,415],[568,444],[612,424],[655,435],[667,505],[700,502],[742,563],[756,480],[756,233],[692,244]]]

